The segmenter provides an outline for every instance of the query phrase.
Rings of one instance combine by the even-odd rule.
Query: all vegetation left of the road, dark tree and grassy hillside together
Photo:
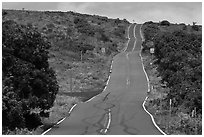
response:
[[[101,93],[129,26],[71,11],[3,10],[2,22],[3,134],[40,134]]]

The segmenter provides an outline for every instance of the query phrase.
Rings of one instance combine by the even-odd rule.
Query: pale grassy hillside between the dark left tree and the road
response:
[[[49,118],[52,125],[68,116],[73,104],[102,92],[113,57],[127,42],[129,22],[75,12],[3,10],[3,19],[34,27],[51,44],[49,65],[59,92]],[[13,133],[15,134],[15,133]]]

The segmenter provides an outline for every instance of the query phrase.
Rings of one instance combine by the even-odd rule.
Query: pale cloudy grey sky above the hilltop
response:
[[[144,23],[202,24],[201,2],[3,2],[3,9],[74,11]]]

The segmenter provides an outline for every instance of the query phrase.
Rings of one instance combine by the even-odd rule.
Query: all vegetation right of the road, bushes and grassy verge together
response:
[[[167,134],[202,134],[201,29],[168,21],[142,27],[142,57],[151,85],[145,106]]]

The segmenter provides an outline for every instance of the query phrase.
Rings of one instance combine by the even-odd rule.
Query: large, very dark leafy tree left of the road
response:
[[[50,44],[31,26],[2,24],[2,126],[33,129],[53,106],[58,91],[48,65]]]

